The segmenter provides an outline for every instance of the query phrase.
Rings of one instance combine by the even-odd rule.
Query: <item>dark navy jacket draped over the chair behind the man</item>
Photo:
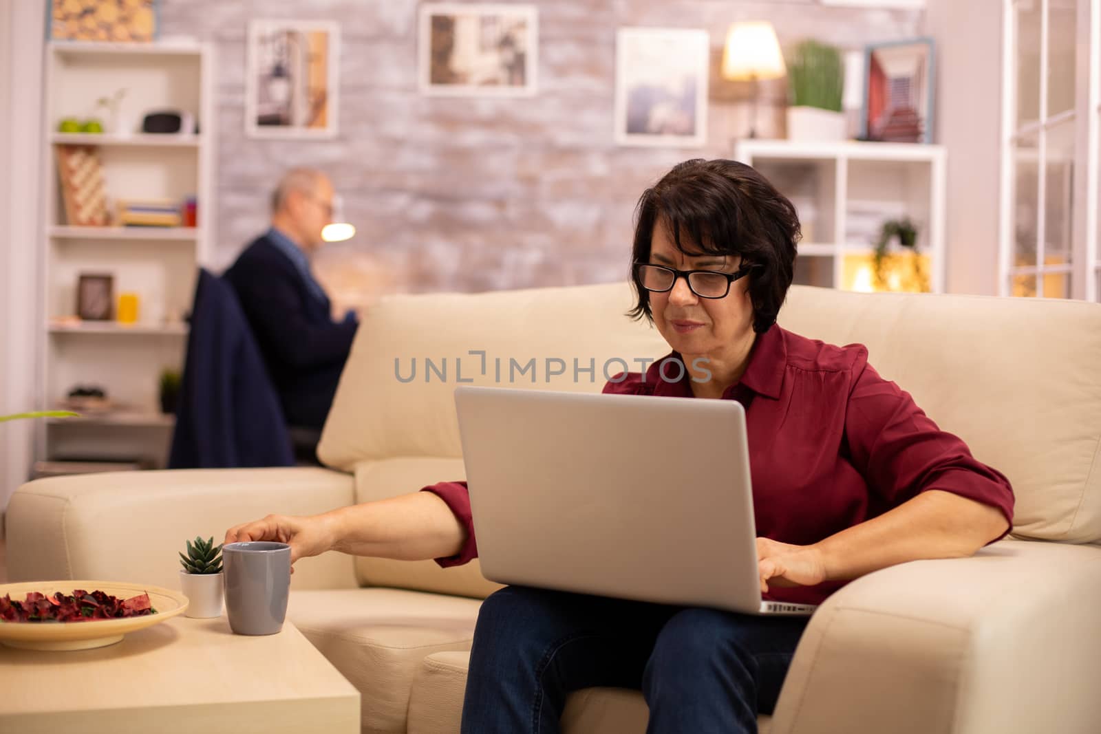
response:
[[[199,271],[170,469],[293,467],[279,397],[233,289]]]

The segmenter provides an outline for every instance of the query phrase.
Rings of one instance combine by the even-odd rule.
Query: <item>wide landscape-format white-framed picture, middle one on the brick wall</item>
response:
[[[537,66],[535,6],[421,6],[417,77],[422,94],[531,97]]]

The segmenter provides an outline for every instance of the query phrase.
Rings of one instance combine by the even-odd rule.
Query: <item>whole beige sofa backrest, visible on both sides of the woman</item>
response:
[[[461,479],[454,387],[599,392],[606,372],[668,351],[623,316],[632,303],[625,284],[384,299],[361,321],[318,454],[357,473],[360,502]],[[865,344],[883,376],[1010,478],[1017,535],[1101,540],[1101,306],[793,286],[780,322]],[[357,572],[366,584],[492,588],[408,566],[359,559]]]

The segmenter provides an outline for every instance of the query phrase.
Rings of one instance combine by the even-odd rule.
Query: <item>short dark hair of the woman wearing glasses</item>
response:
[[[739,255],[753,265],[749,275],[753,330],[776,321],[787,296],[799,241],[795,207],[760,173],[737,161],[694,158],[678,163],[643,191],[635,208],[631,280],[639,303],[630,315],[653,321],[650,292],[642,287],[635,262],[650,262],[654,227],[668,228],[685,254]]]

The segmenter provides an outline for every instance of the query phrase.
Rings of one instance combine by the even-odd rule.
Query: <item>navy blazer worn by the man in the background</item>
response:
[[[358,324],[334,321],[329,299],[310,293],[266,237],[246,248],[224,277],[237,292],[287,423],[320,430]]]

